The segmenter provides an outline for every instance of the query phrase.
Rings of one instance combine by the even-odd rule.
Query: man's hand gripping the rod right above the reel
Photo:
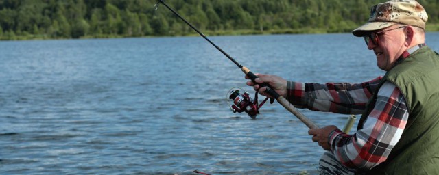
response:
[[[256,81],[257,84],[254,84],[253,81],[247,81],[247,85],[253,86],[253,89],[258,91],[259,94],[273,98],[272,96],[265,93],[267,87],[260,87],[258,85],[261,83],[268,83],[273,88],[273,90],[276,91],[279,95],[283,97],[287,97],[287,81],[285,79],[278,77],[276,75],[263,75],[263,74],[255,74],[255,75],[258,77],[257,79],[254,79],[254,81]],[[246,76],[246,79],[249,78]]]

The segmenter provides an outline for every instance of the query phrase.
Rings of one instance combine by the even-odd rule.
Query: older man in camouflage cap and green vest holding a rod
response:
[[[426,21],[416,1],[372,7],[368,23],[353,30],[386,71],[372,81],[317,84],[258,75],[256,83],[269,83],[296,107],[362,113],[353,135],[336,126],[309,130],[329,150],[321,174],[439,174],[439,56],[425,45]],[[265,87],[247,84],[267,96]]]

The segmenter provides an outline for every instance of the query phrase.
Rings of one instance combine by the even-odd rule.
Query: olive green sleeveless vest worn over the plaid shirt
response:
[[[409,118],[388,159],[367,174],[439,174],[439,55],[423,46],[389,70],[389,81],[401,90]],[[378,92],[378,91],[377,91]],[[377,92],[359,120],[362,129],[375,106]]]

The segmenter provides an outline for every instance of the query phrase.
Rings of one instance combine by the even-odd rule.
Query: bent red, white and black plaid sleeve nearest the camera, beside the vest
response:
[[[343,165],[370,169],[385,161],[401,139],[407,124],[405,99],[392,83],[384,83],[377,102],[364,123],[364,129],[353,135],[336,130],[329,135],[331,150]]]

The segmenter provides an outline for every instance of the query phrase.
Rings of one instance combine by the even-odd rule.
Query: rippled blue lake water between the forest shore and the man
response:
[[[439,51],[439,33],[427,38]],[[348,33],[210,39],[289,80],[383,75]],[[231,112],[230,88],[254,91],[200,37],[1,41],[0,62],[0,174],[316,174],[324,152],[278,103],[256,120]],[[320,126],[347,118],[300,111]]]

